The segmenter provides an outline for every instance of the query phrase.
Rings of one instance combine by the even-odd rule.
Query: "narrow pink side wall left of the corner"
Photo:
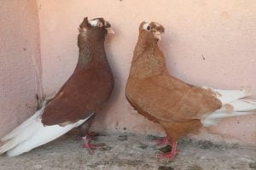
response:
[[[37,107],[40,80],[38,6],[0,1],[0,138]]]

